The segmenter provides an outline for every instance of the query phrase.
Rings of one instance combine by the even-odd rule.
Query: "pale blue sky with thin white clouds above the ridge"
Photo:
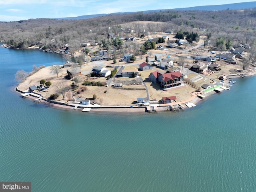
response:
[[[221,5],[255,0],[0,0],[0,21]]]

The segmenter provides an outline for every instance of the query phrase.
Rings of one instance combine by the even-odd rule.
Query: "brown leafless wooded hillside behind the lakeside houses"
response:
[[[141,23],[137,21],[150,21]],[[0,23],[0,40],[14,48],[39,44],[57,50],[67,43],[77,50],[85,42],[92,45],[110,36],[140,37],[168,29],[210,34],[211,42],[222,37],[232,44],[255,44],[256,9],[223,11],[160,11],[107,15],[82,20],[30,19]],[[199,30],[204,28],[205,30]],[[174,36],[173,35],[173,36]],[[123,44],[122,46],[126,46]]]

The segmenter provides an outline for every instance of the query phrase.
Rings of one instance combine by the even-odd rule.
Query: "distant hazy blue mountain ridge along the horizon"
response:
[[[196,7],[188,7],[188,8],[176,8],[176,9],[163,9],[163,10],[148,10],[148,11],[137,11],[142,13],[150,13],[150,12],[159,12],[159,11],[168,11],[168,10],[179,10],[179,11],[185,11],[185,10],[200,10],[200,11],[220,11],[225,9],[230,10],[240,10],[240,9],[251,9],[256,8],[256,2],[244,2],[244,3],[232,3],[232,4],[224,4],[224,5],[206,5],[206,6],[196,6]],[[89,19],[94,17],[101,17],[106,15],[117,15],[117,14],[130,14],[130,13],[136,13],[136,12],[119,12],[119,13],[110,13],[110,14],[96,14],[96,15],[83,15],[78,17],[64,17],[64,18],[56,18],[56,19]]]

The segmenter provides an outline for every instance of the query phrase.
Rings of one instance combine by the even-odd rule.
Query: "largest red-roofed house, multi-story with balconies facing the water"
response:
[[[160,82],[160,86],[164,89],[184,85],[183,76],[179,71],[161,74],[158,76],[158,82]]]

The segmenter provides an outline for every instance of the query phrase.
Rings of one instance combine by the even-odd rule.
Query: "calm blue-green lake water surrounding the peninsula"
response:
[[[0,48],[0,181],[33,192],[255,192],[256,76],[156,114],[56,109],[14,92],[17,70],[58,54]]]

